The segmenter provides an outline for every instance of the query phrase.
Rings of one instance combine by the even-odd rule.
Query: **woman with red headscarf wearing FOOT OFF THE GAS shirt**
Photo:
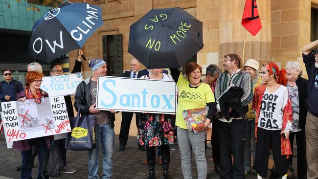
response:
[[[257,179],[267,177],[270,144],[278,174],[287,179],[287,157],[292,154],[289,132],[292,130],[292,104],[289,100],[286,70],[273,62],[261,68],[261,78],[265,84],[255,88],[253,109],[256,110],[255,138],[256,156],[254,169]]]

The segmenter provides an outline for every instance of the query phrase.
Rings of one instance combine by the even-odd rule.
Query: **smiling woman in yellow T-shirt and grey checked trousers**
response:
[[[177,137],[181,154],[181,166],[184,179],[192,179],[191,155],[192,151],[197,164],[198,179],[206,179],[207,163],[205,158],[205,129],[214,119],[216,107],[211,87],[200,81],[202,67],[197,63],[186,65],[183,77],[177,68],[170,68],[171,75],[177,84],[178,110],[176,115]],[[206,120],[200,132],[194,133],[187,129],[182,111],[209,107]]]

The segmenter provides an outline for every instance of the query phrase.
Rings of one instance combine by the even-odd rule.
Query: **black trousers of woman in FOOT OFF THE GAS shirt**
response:
[[[261,177],[267,177],[270,144],[272,144],[273,159],[279,177],[282,177],[287,173],[287,157],[281,155],[280,132],[281,130],[271,131],[257,128],[254,169]]]

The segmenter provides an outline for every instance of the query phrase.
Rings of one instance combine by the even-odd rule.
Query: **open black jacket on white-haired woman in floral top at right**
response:
[[[298,96],[299,96],[299,128],[305,129],[306,125],[306,118],[307,118],[307,87],[308,87],[308,80],[302,78],[301,76],[298,77],[296,80],[296,85],[298,88]]]

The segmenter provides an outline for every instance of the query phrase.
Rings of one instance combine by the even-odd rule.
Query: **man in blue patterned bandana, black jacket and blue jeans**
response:
[[[89,150],[89,179],[98,179],[98,151],[103,150],[103,179],[111,179],[113,175],[114,120],[115,110],[100,111],[96,106],[97,78],[106,76],[107,66],[102,59],[89,61],[92,76],[82,81],[75,92],[74,107],[83,117],[93,114],[96,120],[96,148]]]

